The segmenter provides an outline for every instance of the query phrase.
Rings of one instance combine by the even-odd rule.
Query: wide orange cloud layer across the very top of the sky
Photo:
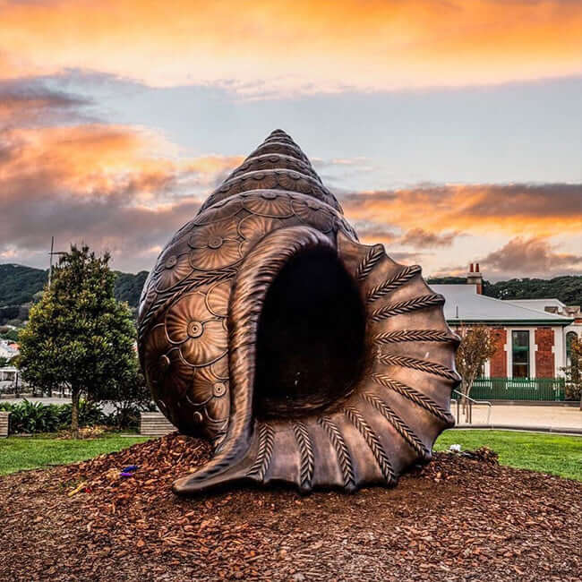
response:
[[[4,76],[90,69],[243,93],[386,90],[582,72],[565,0],[0,0]]]

